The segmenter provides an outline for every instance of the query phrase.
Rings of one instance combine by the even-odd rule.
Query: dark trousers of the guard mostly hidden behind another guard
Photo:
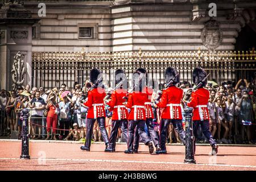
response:
[[[148,133],[155,146],[157,146],[159,144],[159,139],[158,139],[158,134],[156,133],[156,131],[154,130],[154,126],[153,126],[153,119],[152,118],[147,118],[146,119],[146,125],[147,125],[147,129],[148,129]],[[138,150],[139,148],[139,134],[138,134],[138,130],[135,131],[135,136],[134,136],[134,150]]]

